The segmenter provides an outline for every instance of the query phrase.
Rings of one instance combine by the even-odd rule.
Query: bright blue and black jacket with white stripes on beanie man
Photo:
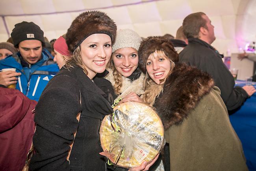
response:
[[[41,60],[32,65],[22,65],[20,52],[0,61],[0,70],[3,68],[16,68],[20,72],[16,89],[28,98],[39,100],[47,83],[59,72],[58,65],[45,50],[42,51]]]

